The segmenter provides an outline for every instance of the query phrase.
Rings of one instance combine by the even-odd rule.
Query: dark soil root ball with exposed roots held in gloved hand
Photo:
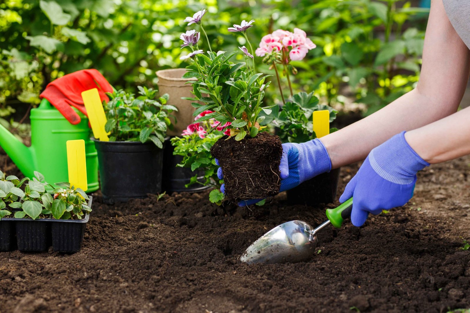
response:
[[[240,141],[221,137],[211,148],[224,173],[225,200],[239,202],[275,196],[281,187],[282,142],[267,132]]]

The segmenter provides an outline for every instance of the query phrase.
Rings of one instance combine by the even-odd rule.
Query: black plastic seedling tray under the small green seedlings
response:
[[[88,206],[92,205],[92,197]],[[13,250],[12,237],[16,228],[16,242],[21,252],[47,251],[52,242],[56,252],[75,253],[80,251],[90,214],[82,220],[55,220],[28,218],[2,218],[0,221],[0,251]],[[10,244],[7,246],[7,242]],[[5,250],[2,250],[2,249]]]

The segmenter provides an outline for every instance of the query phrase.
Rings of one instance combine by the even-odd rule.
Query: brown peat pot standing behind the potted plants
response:
[[[162,69],[157,71],[158,91],[161,95],[170,95],[169,104],[178,108],[178,112],[171,114],[176,117],[176,124],[173,130],[168,130],[169,136],[181,136],[189,124],[194,123],[193,113],[195,107],[191,106],[190,100],[183,100],[181,97],[194,97],[191,93],[193,86],[187,84],[194,81],[194,78],[181,78],[186,73],[186,69]]]

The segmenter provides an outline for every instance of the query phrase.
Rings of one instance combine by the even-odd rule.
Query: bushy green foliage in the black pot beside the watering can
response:
[[[105,130],[110,141],[153,142],[163,148],[168,127],[172,129],[168,112],[178,111],[166,104],[168,94],[157,99],[157,91],[139,86],[140,96],[123,90],[108,93],[110,101],[103,102],[108,121]]]

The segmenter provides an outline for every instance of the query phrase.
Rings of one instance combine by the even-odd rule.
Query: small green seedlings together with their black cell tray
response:
[[[9,216],[11,213],[6,214],[0,221],[0,228],[5,222],[14,223],[17,247],[22,252],[46,251],[51,235],[54,251],[80,251],[86,223],[92,211],[91,197],[80,188],[74,189],[69,183],[56,183],[60,187],[54,189],[53,197],[46,191],[46,186],[51,189],[54,187],[44,182],[44,176],[40,173],[34,172],[34,175],[31,180],[14,180],[27,183],[23,190],[19,187],[10,189],[9,193],[15,195],[11,200],[16,198],[8,205],[14,217]],[[8,250],[11,250],[11,246]]]

